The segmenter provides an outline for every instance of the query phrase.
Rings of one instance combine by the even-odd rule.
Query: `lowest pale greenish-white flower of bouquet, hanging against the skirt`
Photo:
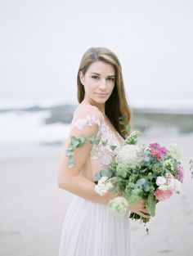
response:
[[[110,200],[108,207],[114,216],[123,216],[128,210],[128,201],[123,196],[117,196]]]

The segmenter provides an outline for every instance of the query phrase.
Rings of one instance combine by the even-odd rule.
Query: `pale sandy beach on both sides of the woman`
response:
[[[186,177],[181,195],[158,205],[155,218],[147,226],[149,235],[142,224],[131,222],[136,256],[191,256],[193,180],[188,159],[193,158],[193,134],[165,133],[158,137],[149,133],[141,141],[177,143]],[[0,162],[0,255],[57,255],[61,225],[71,199],[70,193],[56,185],[61,149],[50,147],[45,153],[42,147],[42,154]]]

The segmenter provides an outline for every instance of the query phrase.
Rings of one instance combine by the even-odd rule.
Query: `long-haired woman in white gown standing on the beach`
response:
[[[70,138],[81,145],[73,148],[69,138],[61,155],[58,186],[74,198],[65,215],[59,256],[132,256],[128,216],[115,218],[106,207],[114,195],[110,191],[98,195],[93,182],[95,173],[110,167],[123,145],[126,131],[119,117],[128,124],[131,119],[117,56],[102,47],[88,49],[77,82],[79,106],[74,111]],[[128,211],[147,217],[143,200],[129,205]]]

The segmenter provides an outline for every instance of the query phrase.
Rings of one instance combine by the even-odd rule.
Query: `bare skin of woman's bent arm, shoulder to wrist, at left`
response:
[[[89,107],[87,115],[95,116],[98,120],[101,119],[101,113],[92,106]],[[85,114],[80,111],[78,117],[83,120]],[[85,125],[83,126],[83,129],[75,126],[72,128],[70,136],[79,137],[80,135],[83,135],[83,137],[88,138],[96,136],[98,130],[99,127],[97,124]],[[114,195],[111,192],[108,192],[103,196],[98,195],[95,191],[96,184],[80,174],[92,149],[90,141],[86,140],[83,146],[74,149],[74,167],[71,168],[68,166],[68,158],[65,155],[69,143],[69,141],[66,143],[65,149],[61,155],[58,173],[58,186],[87,200],[92,200],[101,204],[108,204],[109,200],[114,198]]]

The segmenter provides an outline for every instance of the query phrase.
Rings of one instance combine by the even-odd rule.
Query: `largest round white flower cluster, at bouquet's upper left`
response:
[[[130,168],[136,168],[141,164],[140,157],[141,149],[137,145],[125,145],[119,150],[116,156],[116,162],[119,164],[128,165]]]

